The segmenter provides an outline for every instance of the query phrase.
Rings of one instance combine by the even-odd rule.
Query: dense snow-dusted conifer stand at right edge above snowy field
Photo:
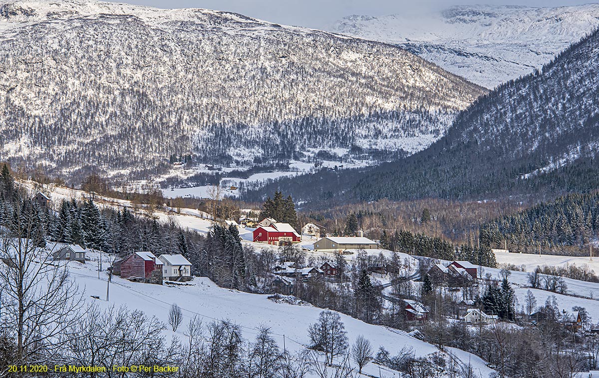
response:
[[[599,193],[570,194],[505,215],[480,227],[480,242],[512,251],[543,249],[588,254],[599,231]]]

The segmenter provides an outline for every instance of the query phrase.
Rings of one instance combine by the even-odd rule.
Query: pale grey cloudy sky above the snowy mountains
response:
[[[351,14],[384,16],[397,13],[421,13],[452,5],[530,5],[533,7],[561,7],[588,4],[585,0],[126,0],[130,4],[159,8],[208,8],[231,11],[283,25],[328,29],[336,20]]]

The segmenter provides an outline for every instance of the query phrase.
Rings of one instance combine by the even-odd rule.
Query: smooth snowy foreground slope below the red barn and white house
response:
[[[92,260],[98,255],[88,253]],[[108,262],[110,257],[102,260]],[[97,261],[97,260],[96,260]],[[206,278],[195,278],[192,286],[152,285],[129,282],[113,276],[110,284],[110,301],[105,301],[107,281],[104,273],[98,279],[96,264],[69,262],[69,272],[77,281],[80,289],[85,290],[86,301],[96,303],[101,307],[128,306],[140,309],[150,316],[156,316],[162,322],[167,322],[167,314],[171,304],[177,303],[183,310],[184,322],[197,315],[203,322],[215,319],[226,319],[243,327],[244,336],[253,339],[261,325],[267,325],[273,331],[280,345],[283,345],[285,335],[286,347],[299,350],[309,345],[307,335],[308,325],[316,321],[322,309],[311,306],[295,306],[292,304],[275,303],[268,300],[267,295],[248,294],[235,290],[223,289],[214,285]],[[90,295],[97,295],[101,300],[95,300]],[[350,343],[358,335],[364,335],[374,348],[384,346],[391,353],[397,353],[404,346],[412,347],[416,356],[426,356],[439,352],[437,347],[414,339],[403,331],[386,327],[366,324],[346,315],[341,315],[347,330]],[[176,335],[184,339],[185,328],[178,330]],[[168,332],[172,335],[172,331]],[[482,360],[470,353],[452,351],[462,362],[473,365],[475,371],[483,377],[488,377],[492,370]],[[381,367],[383,377],[397,377],[397,372]],[[379,376],[379,366],[369,364],[364,369],[365,374]]]

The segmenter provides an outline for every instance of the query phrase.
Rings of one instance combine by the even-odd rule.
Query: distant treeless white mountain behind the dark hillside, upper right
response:
[[[492,89],[533,72],[599,26],[599,4],[472,5],[415,17],[349,16],[331,31],[391,42]]]

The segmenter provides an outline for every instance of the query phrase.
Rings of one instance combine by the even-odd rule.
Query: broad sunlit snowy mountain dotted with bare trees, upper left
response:
[[[240,14],[0,0],[0,159],[54,173],[414,153],[483,93],[394,45]]]

